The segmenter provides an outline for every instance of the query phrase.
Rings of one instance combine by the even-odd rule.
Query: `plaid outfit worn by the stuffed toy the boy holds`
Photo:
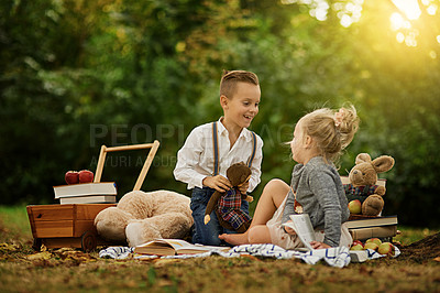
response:
[[[222,219],[228,221],[235,230],[251,220],[251,217],[241,210],[241,200],[240,191],[231,188],[220,197],[217,207]]]

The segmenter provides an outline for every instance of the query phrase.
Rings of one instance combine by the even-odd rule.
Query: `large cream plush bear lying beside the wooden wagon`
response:
[[[122,196],[116,207],[95,218],[98,234],[108,241],[130,247],[157,238],[184,238],[193,226],[189,197],[169,191],[134,191]]]

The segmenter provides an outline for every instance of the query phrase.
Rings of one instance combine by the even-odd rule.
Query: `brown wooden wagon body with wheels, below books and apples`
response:
[[[34,238],[34,249],[72,247],[84,251],[108,245],[98,236],[96,215],[117,204],[72,204],[28,206],[28,216]]]

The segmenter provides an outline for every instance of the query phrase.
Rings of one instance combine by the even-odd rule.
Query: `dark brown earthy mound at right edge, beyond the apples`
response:
[[[408,246],[403,246],[399,249],[402,251],[402,254],[398,257],[399,260],[426,262],[440,258],[440,232]]]

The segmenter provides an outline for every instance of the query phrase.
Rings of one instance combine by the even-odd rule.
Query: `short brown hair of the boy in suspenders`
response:
[[[235,94],[237,83],[248,83],[258,86],[258,77],[256,74],[246,70],[223,70],[220,82],[220,96],[232,98]]]

